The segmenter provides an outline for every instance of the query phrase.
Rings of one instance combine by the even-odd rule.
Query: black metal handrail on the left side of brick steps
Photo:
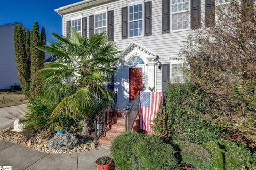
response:
[[[117,114],[117,92],[113,95],[113,102],[108,103],[107,106],[100,112],[100,114],[95,118],[95,143],[102,134],[106,131],[108,124]]]

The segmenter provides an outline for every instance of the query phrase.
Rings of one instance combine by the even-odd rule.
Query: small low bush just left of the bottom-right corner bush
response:
[[[211,141],[205,142],[204,147],[209,150],[212,156],[212,165],[209,170],[221,170],[224,169],[224,154],[225,150],[219,148],[219,146]]]

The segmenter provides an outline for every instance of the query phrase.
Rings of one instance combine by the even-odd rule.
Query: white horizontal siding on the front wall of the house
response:
[[[171,0],[170,0],[171,1]],[[136,38],[127,38],[122,39],[122,13],[121,9],[127,7],[126,1],[114,1],[111,3],[99,5],[92,7],[91,9],[85,9],[81,11],[76,11],[74,13],[69,13],[63,15],[63,35],[66,35],[66,22],[70,21],[73,17],[81,16],[89,17],[94,15],[95,11],[102,9],[105,10],[108,7],[108,11],[114,10],[114,40],[117,43],[118,51],[123,51],[128,45],[133,41],[139,43],[140,45],[146,47],[148,50],[156,53],[159,56],[159,60],[162,64],[172,64],[173,60],[170,58],[177,58],[179,55],[180,49],[183,47],[183,42],[187,40],[189,34],[189,29],[173,31],[171,33],[162,34],[162,0],[152,1],[152,35],[151,36],[142,36]],[[204,11],[205,11],[205,1],[201,0],[201,19],[204,20]],[[204,23],[203,23],[204,24]],[[89,29],[89,22],[87,25]],[[89,36],[89,34],[88,34]],[[171,70],[171,68],[170,68]],[[162,70],[156,68],[156,91],[162,91]],[[115,77],[115,81],[118,82],[120,77]],[[115,85],[121,88],[121,85]],[[124,94],[120,94],[124,95]]]

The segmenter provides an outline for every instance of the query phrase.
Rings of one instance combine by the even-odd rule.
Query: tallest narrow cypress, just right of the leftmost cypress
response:
[[[43,68],[44,56],[36,47],[41,46],[41,36],[39,25],[36,21],[30,34],[30,55],[31,55],[31,78],[30,78],[30,95],[35,99],[40,94],[42,78],[38,74],[38,70]]]

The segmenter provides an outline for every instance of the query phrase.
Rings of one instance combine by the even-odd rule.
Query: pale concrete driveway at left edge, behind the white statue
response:
[[[22,104],[0,108],[0,130],[13,126],[15,119],[22,119],[28,111],[27,106],[28,104]]]

